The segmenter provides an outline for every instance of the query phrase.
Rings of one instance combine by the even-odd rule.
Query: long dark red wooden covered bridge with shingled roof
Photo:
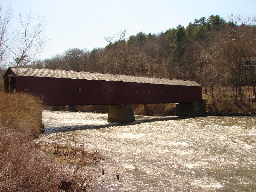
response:
[[[16,88],[40,96],[48,105],[110,105],[109,113],[113,109],[119,116],[135,103],[202,100],[202,87],[194,81],[57,69],[10,67],[4,74],[4,86],[8,92]]]

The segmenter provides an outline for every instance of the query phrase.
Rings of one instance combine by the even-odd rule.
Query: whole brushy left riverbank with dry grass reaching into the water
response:
[[[45,153],[45,146],[34,145],[41,135],[42,110],[36,97],[0,92],[0,191],[89,191],[95,177],[84,165],[101,156],[61,145]]]

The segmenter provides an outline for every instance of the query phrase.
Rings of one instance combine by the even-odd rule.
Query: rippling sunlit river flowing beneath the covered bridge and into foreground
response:
[[[107,118],[43,112],[40,140],[83,140],[108,158],[96,165],[94,191],[256,191],[255,116],[135,116],[131,124]]]

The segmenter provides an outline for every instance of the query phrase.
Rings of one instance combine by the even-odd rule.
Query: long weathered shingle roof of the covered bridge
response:
[[[184,81],[176,79],[160,79],[142,76],[117,75],[107,73],[92,73],[83,71],[69,71],[59,69],[44,69],[44,68],[20,68],[10,67],[16,76],[35,76],[35,77],[52,77],[65,79],[86,79],[99,81],[123,81],[134,83],[148,84],[166,84],[166,85],[184,85],[184,86],[201,86],[195,81]]]

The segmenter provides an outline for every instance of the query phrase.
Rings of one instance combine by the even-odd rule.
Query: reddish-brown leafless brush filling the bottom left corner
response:
[[[57,191],[60,172],[33,152],[31,146],[7,148],[1,159],[0,191]]]

